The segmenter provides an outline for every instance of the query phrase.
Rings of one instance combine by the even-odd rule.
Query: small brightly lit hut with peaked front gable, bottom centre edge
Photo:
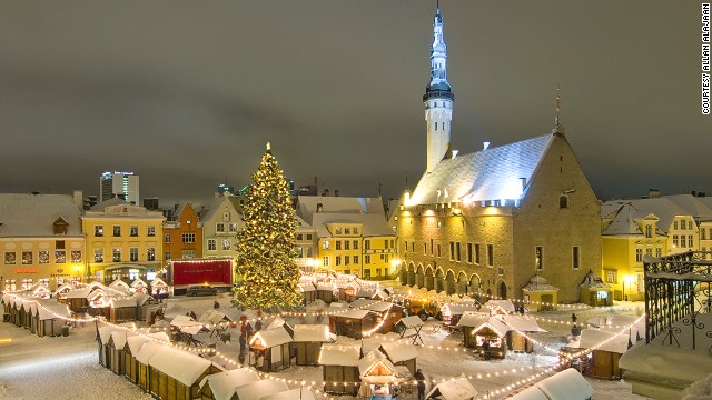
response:
[[[398,372],[384,353],[372,350],[358,361],[360,388],[358,394],[363,399],[393,399],[396,392]]]

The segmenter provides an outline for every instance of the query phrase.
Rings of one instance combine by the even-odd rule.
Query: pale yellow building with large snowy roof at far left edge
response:
[[[66,194],[0,194],[0,290],[50,290],[85,276],[80,191]]]

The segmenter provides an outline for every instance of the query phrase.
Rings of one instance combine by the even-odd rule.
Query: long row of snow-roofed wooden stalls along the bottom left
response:
[[[306,387],[289,389],[259,379],[248,368],[225,370],[210,359],[177,349],[165,332],[131,334],[113,326],[99,328],[99,362],[164,400],[314,400]]]

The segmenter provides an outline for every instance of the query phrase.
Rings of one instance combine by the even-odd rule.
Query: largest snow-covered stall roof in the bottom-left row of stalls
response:
[[[165,346],[148,360],[148,364],[175,378],[185,386],[192,386],[210,368],[210,360]]]

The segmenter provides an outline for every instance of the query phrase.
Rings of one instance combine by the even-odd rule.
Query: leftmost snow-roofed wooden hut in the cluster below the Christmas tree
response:
[[[284,327],[261,330],[249,339],[248,344],[258,370],[275,372],[290,367],[291,337]]]

